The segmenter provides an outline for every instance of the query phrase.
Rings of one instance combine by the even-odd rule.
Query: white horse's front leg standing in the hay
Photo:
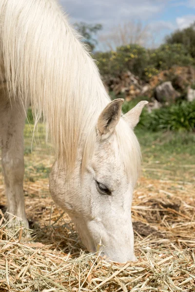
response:
[[[0,134],[2,146],[2,169],[7,197],[7,215],[22,219],[28,228],[23,197],[24,158],[23,128],[25,111],[17,101],[1,100]],[[12,214],[12,215],[11,215]]]

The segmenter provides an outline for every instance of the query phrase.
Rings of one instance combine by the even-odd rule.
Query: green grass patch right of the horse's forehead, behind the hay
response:
[[[195,180],[195,133],[136,129],[144,176],[177,181]]]

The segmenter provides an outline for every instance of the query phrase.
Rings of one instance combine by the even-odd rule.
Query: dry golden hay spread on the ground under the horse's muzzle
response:
[[[192,183],[140,180],[132,208],[138,261],[126,264],[84,252],[70,219],[50,198],[47,179],[26,182],[24,190],[27,217],[36,223],[28,237],[1,218],[0,292],[195,291]]]

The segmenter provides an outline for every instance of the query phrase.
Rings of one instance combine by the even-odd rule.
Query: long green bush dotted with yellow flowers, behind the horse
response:
[[[95,58],[102,75],[117,76],[129,70],[145,81],[174,65],[195,65],[194,58],[182,44],[163,44],[154,50],[131,44],[118,47],[116,51],[96,53]]]

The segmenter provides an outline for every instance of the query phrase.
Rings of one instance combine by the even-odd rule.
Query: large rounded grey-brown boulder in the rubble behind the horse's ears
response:
[[[174,102],[180,93],[173,88],[171,81],[163,82],[155,89],[155,98],[161,103]]]

